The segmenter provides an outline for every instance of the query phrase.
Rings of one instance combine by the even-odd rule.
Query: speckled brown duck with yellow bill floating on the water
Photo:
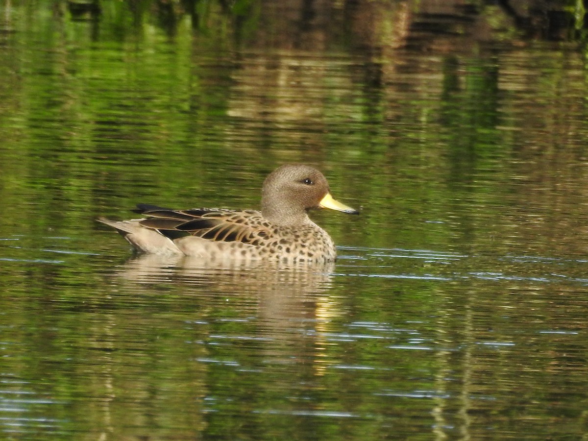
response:
[[[312,222],[307,211],[330,208],[357,214],[335,201],[318,170],[298,164],[276,169],[263,182],[261,212],[198,208],[173,210],[139,204],[134,212],[143,219],[98,219],[116,228],[143,253],[185,255],[208,261],[331,262],[335,244]]]

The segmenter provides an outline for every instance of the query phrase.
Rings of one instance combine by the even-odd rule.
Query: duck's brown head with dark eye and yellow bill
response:
[[[330,208],[345,213],[358,211],[335,201],[329,183],[317,169],[302,164],[282,165],[265,179],[262,190],[262,215],[278,225],[300,225],[308,221],[306,212]]]

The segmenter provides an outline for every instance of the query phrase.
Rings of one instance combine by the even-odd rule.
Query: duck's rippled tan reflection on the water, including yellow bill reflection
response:
[[[295,353],[300,359],[313,359],[310,375],[320,375],[325,368],[320,334],[338,311],[336,302],[325,295],[332,286],[334,269],[332,262],[288,266],[226,260],[211,265],[198,258],[143,255],[126,262],[118,275],[133,283],[201,290],[218,305],[221,315],[226,299],[228,309],[236,308],[233,313],[253,316],[259,326],[256,336],[272,341],[263,345],[264,355],[282,358],[284,345],[299,348]],[[306,330],[312,331],[310,335]]]

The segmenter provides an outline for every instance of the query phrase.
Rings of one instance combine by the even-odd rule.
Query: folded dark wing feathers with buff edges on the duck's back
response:
[[[193,208],[173,210],[156,205],[139,204],[133,212],[148,216],[140,221],[171,239],[192,235],[215,242],[256,241],[270,234],[268,222],[255,210]]]

